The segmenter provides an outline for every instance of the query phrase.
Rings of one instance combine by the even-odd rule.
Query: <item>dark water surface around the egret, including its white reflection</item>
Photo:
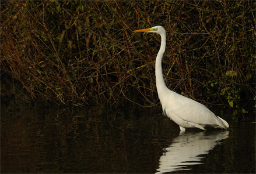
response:
[[[160,113],[2,106],[1,173],[255,173],[255,124],[179,135]]]

